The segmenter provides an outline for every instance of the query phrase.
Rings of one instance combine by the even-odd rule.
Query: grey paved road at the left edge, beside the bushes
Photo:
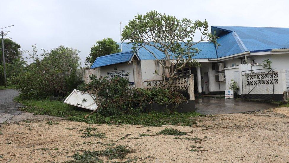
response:
[[[20,103],[13,101],[13,98],[18,94],[19,92],[13,89],[0,90],[0,124],[3,122],[12,123],[17,121],[35,119],[63,119],[49,115],[33,115],[33,113],[26,113],[18,110],[19,107],[23,107],[23,105],[21,105]]]

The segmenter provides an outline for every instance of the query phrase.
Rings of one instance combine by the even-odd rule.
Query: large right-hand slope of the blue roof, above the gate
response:
[[[289,28],[211,26],[211,29],[212,33],[216,31],[217,34],[221,31],[236,32],[247,51],[251,52],[289,48]]]

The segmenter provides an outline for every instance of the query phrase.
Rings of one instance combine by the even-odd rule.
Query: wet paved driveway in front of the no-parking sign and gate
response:
[[[277,107],[277,104],[264,101],[247,101],[242,99],[224,99],[203,97],[196,98],[196,112],[204,115],[241,113]]]

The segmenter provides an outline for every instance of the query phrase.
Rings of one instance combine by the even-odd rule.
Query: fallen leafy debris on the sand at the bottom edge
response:
[[[66,163],[83,163],[83,162],[104,162],[99,157],[107,157],[112,159],[124,159],[128,153],[134,152],[127,148],[127,146],[118,145],[114,148],[106,148],[100,151],[83,151],[82,154],[76,153],[72,156],[73,160],[66,161]],[[131,159],[129,159],[131,160]],[[129,161],[131,162],[131,161]]]

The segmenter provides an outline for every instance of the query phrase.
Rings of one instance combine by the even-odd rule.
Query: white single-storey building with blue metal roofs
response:
[[[231,80],[244,99],[280,101],[289,91],[289,28],[211,26],[219,37],[218,48],[211,42],[195,45],[200,52],[193,59],[201,67],[183,67],[178,74],[193,74],[195,94],[224,94]],[[144,48],[131,50],[133,43],[118,43],[121,53],[98,57],[85,73],[98,77],[129,77],[135,87],[151,88],[163,84],[168,75],[155,57]],[[158,59],[164,54],[148,46]],[[165,60],[163,60],[165,62]],[[165,81],[164,81],[165,82]],[[175,90],[183,89],[176,86]],[[185,88],[185,87],[184,87]]]

